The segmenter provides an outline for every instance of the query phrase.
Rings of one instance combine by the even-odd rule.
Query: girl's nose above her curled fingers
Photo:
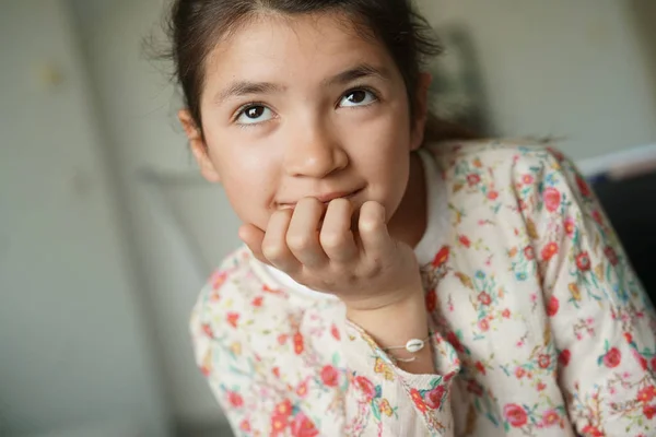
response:
[[[284,166],[288,175],[324,178],[349,165],[349,156],[335,130],[326,122],[297,126],[285,150]]]

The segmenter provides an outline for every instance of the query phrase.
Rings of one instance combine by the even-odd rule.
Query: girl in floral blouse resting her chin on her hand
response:
[[[435,123],[409,1],[177,0],[171,29],[244,222],[191,319],[236,435],[654,435],[654,311],[590,189]]]

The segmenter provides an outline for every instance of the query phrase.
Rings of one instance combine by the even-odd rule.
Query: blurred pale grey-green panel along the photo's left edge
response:
[[[67,7],[0,7],[0,435],[165,436]]]

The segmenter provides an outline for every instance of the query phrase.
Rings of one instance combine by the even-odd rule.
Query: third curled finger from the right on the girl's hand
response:
[[[308,268],[317,268],[328,261],[319,244],[319,222],[326,206],[314,198],[302,199],[294,209],[286,233],[286,244],[296,259]]]

